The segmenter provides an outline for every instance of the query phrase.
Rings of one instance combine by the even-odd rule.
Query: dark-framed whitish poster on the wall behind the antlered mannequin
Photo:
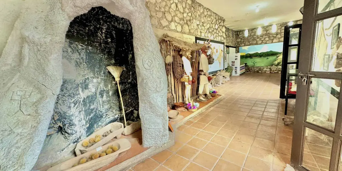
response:
[[[209,39],[203,39],[196,37],[196,43],[204,44],[205,41],[209,41]],[[224,69],[224,42],[210,40],[211,44],[211,55],[214,58],[215,62],[209,65],[209,73],[213,71],[218,71]]]

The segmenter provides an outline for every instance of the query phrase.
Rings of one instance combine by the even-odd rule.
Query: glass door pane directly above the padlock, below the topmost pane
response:
[[[342,16],[317,22],[312,71],[342,71],[341,22]]]

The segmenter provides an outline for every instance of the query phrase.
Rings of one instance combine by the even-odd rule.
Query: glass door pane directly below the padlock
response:
[[[340,88],[335,81],[338,80],[311,79],[306,122],[334,130],[340,96]]]

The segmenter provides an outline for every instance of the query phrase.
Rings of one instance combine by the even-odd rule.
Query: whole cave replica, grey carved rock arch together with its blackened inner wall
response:
[[[143,146],[168,141],[167,78],[144,0],[23,2],[0,57],[0,170],[66,160],[112,122],[141,120]],[[39,156],[39,157],[38,157]]]

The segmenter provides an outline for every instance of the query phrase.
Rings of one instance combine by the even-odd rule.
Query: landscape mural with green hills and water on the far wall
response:
[[[282,45],[283,42],[239,47],[240,63],[247,63],[247,66],[281,66]]]

